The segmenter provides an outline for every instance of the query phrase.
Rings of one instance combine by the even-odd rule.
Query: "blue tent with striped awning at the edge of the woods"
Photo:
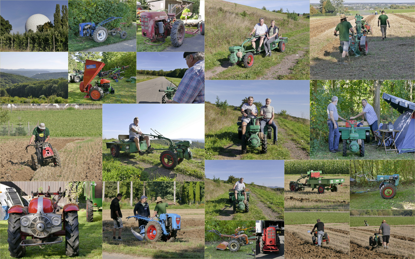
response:
[[[402,114],[393,123],[393,129],[400,131],[395,134],[399,154],[415,152],[415,103],[386,93],[383,93],[382,98]]]

